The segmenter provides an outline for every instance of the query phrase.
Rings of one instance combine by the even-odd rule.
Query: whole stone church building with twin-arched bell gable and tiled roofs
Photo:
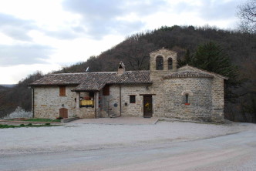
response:
[[[150,53],[149,71],[45,75],[32,82],[35,118],[167,117],[221,122],[226,77],[186,65],[177,52]]]

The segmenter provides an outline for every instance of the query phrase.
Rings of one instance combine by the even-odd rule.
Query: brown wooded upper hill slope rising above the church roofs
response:
[[[214,41],[226,49],[232,62],[244,68],[244,62],[254,59],[256,35],[226,31],[217,28],[194,28],[193,26],[162,27],[150,32],[131,35],[112,49],[92,56],[87,62],[66,67],[58,72],[116,71],[120,61],[127,70],[149,69],[149,53],[165,47],[178,52],[182,58],[186,50],[194,52],[197,45]]]

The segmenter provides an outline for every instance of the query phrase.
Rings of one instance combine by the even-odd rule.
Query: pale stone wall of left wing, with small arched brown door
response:
[[[73,86],[66,86],[66,96],[59,96],[59,86],[35,87],[35,118],[56,119],[59,117],[59,109],[68,109],[68,116],[79,116],[80,118],[95,118],[94,108],[76,109],[76,92],[72,92]],[[63,106],[62,106],[63,105]]]

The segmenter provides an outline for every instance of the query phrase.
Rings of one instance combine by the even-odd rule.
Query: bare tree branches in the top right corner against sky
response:
[[[242,32],[256,32],[256,0],[248,0],[244,5],[238,5],[237,16],[241,20],[238,28]]]

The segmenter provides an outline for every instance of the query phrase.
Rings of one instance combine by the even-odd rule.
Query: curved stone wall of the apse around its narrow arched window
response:
[[[174,119],[211,121],[211,82],[207,78],[164,80],[165,116]],[[185,94],[189,94],[189,105]]]

